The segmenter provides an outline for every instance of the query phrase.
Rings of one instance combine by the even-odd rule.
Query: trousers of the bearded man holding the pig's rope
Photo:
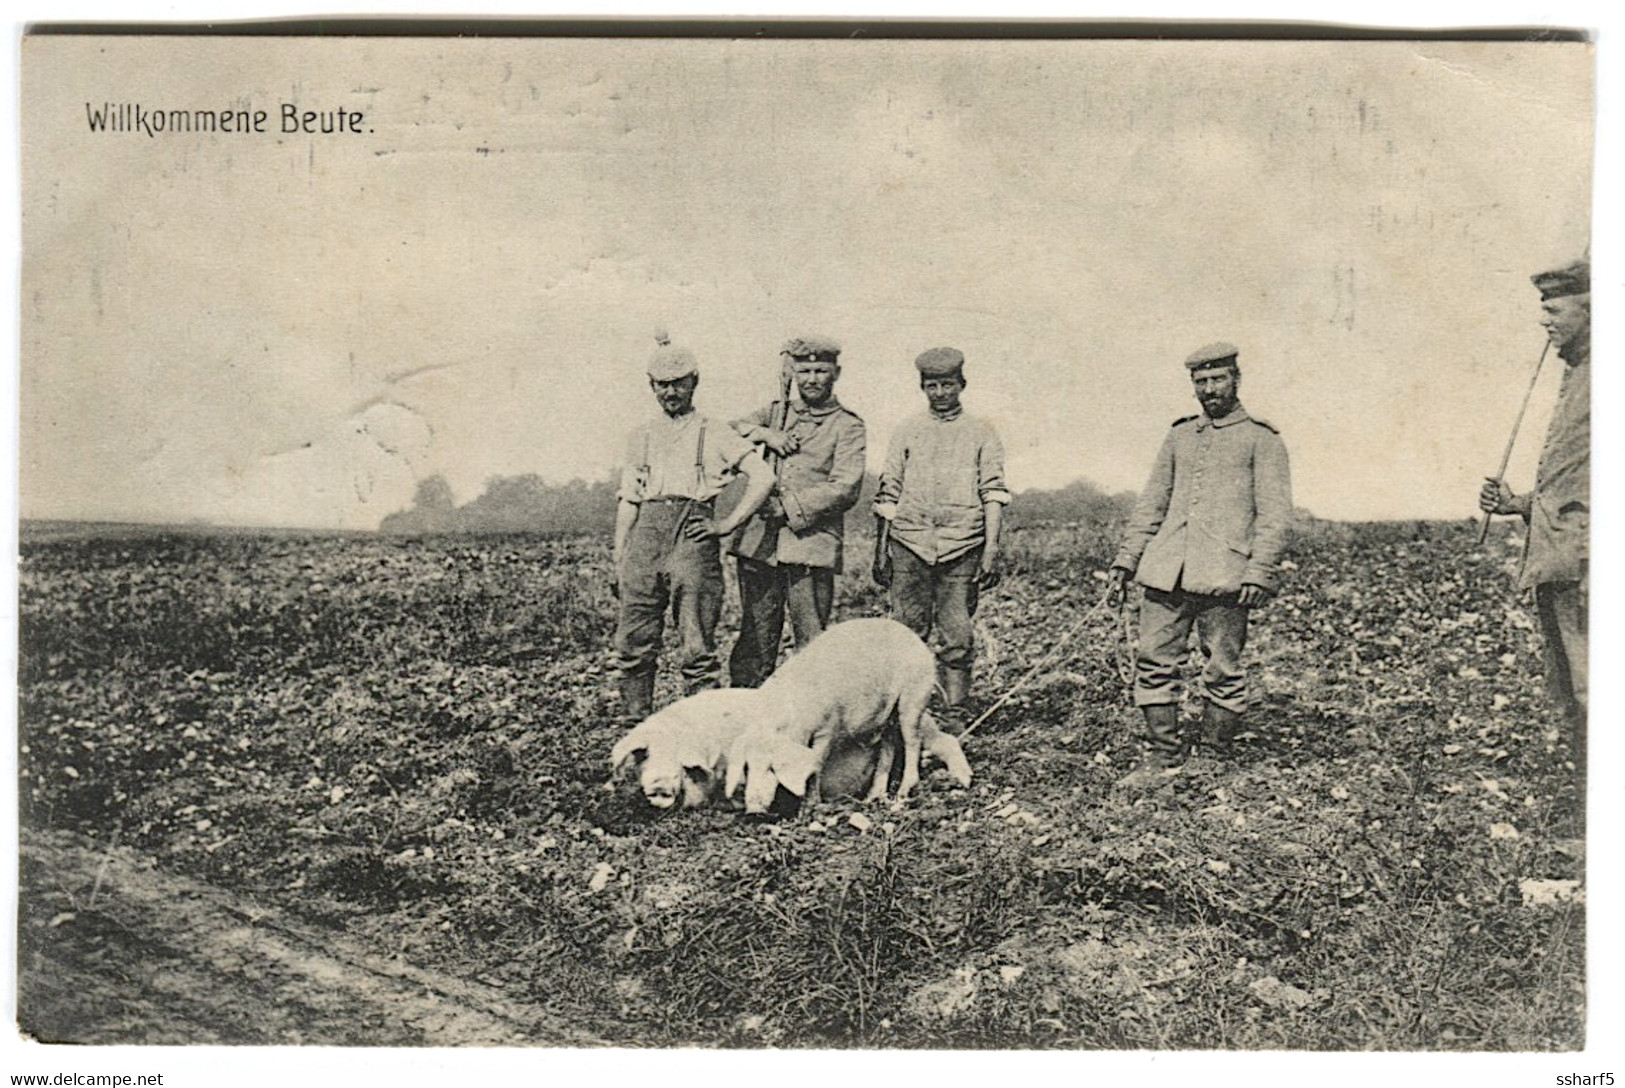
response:
[[[1134,659],[1134,705],[1178,703],[1180,669],[1190,656],[1191,628],[1206,663],[1201,687],[1207,702],[1242,713],[1246,710],[1246,609],[1235,594],[1209,596],[1185,589],[1146,588],[1139,609],[1139,654]]]

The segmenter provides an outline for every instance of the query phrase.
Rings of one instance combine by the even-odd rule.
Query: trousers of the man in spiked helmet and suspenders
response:
[[[717,619],[722,615],[722,550],[717,541],[691,541],[682,525],[707,503],[652,500],[639,507],[621,559],[621,611],[614,630],[622,677],[653,679],[666,611],[678,624],[678,669],[684,692],[717,687]]]

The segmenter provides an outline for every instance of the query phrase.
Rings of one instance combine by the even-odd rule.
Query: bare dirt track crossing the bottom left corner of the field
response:
[[[18,1007],[49,1043],[592,1046],[496,991],[414,968],[124,848],[23,831]]]

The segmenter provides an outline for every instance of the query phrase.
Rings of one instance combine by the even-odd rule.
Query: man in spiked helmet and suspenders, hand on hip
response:
[[[663,344],[648,361],[648,388],[661,416],[632,430],[614,523],[621,611],[614,632],[621,710],[648,716],[666,606],[676,612],[678,666],[687,693],[717,687],[717,617],[723,580],[718,539],[749,518],[774,473],[733,427],[694,411],[694,354]],[[733,476],[748,479],[739,505],[715,520],[715,500]]]

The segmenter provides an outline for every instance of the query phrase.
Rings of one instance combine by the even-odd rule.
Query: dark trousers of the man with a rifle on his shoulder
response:
[[[796,650],[826,627],[835,604],[835,572],[830,567],[764,563],[739,557],[739,640],[728,656],[733,687],[760,687],[778,667],[778,643],[790,614]]]

